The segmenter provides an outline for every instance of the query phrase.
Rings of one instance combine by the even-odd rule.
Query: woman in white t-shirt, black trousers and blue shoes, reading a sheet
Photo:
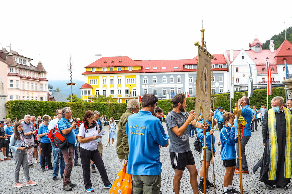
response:
[[[105,165],[100,157],[96,141],[99,137],[97,136],[99,131],[98,123],[94,120],[94,115],[92,111],[86,111],[83,117],[83,121],[80,124],[78,141],[79,141],[79,151],[80,151],[80,159],[82,164],[83,171],[83,181],[85,190],[87,192],[93,192],[93,188],[91,188],[91,180],[90,180],[90,159],[96,165],[102,182],[104,184],[104,188],[111,188],[112,185],[109,182],[107,177],[107,171],[105,170]]]

